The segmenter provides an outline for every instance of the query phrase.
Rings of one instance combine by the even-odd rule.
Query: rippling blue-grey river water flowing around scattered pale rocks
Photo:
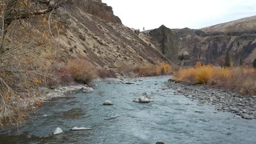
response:
[[[174,95],[175,89],[163,90],[168,78],[153,77],[135,85],[97,82],[93,93],[51,100],[20,127],[0,130],[0,143],[256,143],[255,120],[200,106]],[[133,103],[142,92],[154,101]],[[105,100],[114,105],[102,105]],[[64,133],[52,136],[57,127]],[[92,130],[69,131],[73,127]]]

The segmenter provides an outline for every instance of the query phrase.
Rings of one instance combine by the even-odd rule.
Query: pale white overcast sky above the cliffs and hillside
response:
[[[255,0],[102,0],[124,25],[203,28],[256,15]]]

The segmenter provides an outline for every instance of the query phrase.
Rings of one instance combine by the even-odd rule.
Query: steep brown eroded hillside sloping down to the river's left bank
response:
[[[167,61],[146,35],[124,26],[113,14],[112,7],[100,0],[76,1],[50,14],[16,22],[16,25],[5,44],[32,41],[36,43],[34,47],[44,47],[44,53],[48,54],[38,55],[38,58],[47,61],[53,53],[57,61],[82,58],[97,68],[125,68]],[[19,33],[20,27],[22,33]],[[19,34],[13,34],[16,32]]]

